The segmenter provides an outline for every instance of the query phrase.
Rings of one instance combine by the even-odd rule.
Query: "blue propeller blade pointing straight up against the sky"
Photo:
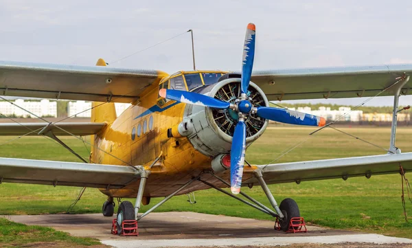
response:
[[[253,59],[255,58],[255,24],[249,23],[244,37],[243,60],[242,60],[242,93],[247,93],[251,81]]]

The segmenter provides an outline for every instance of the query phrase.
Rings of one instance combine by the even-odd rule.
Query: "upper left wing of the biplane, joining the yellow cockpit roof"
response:
[[[162,71],[0,61],[0,95],[133,102]]]

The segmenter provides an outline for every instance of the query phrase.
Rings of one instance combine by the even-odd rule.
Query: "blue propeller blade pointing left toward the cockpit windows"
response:
[[[187,104],[209,106],[214,109],[227,109],[230,106],[229,102],[223,102],[216,98],[211,98],[208,95],[202,95],[194,92],[178,91],[176,89],[161,89],[159,95],[162,98],[175,100]]]

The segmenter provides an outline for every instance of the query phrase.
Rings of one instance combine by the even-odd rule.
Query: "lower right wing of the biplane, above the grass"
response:
[[[267,183],[288,183],[393,174],[400,172],[400,165],[405,171],[412,170],[412,153],[269,164],[258,168],[262,169]],[[244,181],[256,182],[258,181],[254,177]]]

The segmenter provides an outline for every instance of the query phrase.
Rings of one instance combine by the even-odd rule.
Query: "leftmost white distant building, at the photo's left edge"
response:
[[[25,101],[23,99],[16,99],[13,103],[40,117],[57,117],[57,102],[55,101],[51,102],[47,99],[40,101]],[[11,104],[10,102],[2,101],[0,102],[0,113],[6,116],[15,115],[16,117],[36,117],[17,106]]]

